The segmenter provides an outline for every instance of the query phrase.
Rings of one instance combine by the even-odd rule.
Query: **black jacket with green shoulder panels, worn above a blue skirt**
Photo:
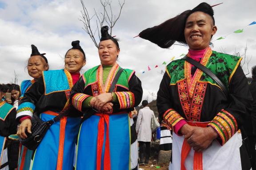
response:
[[[84,100],[90,96],[95,97],[102,93],[108,93],[118,70],[120,70],[120,66],[115,64],[109,72],[105,85],[102,81],[102,65],[86,71],[72,88],[70,97],[72,105],[80,111],[85,111],[86,108],[82,107]],[[124,109],[128,109],[129,112],[140,104],[142,98],[140,79],[136,77],[133,70],[124,69],[116,83],[114,92],[118,98],[118,103],[114,103],[111,113],[118,113]]]

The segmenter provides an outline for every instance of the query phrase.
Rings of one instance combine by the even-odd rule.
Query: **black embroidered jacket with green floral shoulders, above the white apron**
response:
[[[188,54],[187,54],[188,55]],[[242,58],[206,50],[200,63],[210,69],[229,89],[228,98],[201,70],[191,77],[191,64],[182,59],[168,64],[157,93],[160,120],[171,128],[180,121],[210,122],[223,145],[238,131],[251,108],[247,78],[240,66]]]

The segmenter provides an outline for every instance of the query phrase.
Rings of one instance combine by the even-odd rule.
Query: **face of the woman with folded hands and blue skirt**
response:
[[[114,65],[120,50],[111,39],[101,41],[99,44],[100,62],[105,66]]]

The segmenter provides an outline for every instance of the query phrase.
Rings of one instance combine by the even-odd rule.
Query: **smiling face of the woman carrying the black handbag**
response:
[[[65,56],[65,68],[69,73],[79,73],[85,63],[84,54],[80,50],[69,50]]]

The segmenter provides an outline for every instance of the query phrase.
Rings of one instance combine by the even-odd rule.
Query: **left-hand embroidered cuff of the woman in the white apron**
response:
[[[174,130],[174,126],[180,122],[180,120],[185,120],[178,112],[174,109],[168,109],[163,115],[164,121],[169,125],[172,130]]]

